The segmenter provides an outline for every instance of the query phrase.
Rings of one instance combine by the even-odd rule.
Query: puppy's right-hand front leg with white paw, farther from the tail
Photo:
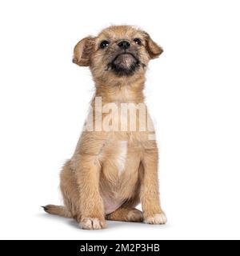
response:
[[[158,149],[147,149],[142,158],[142,186],[140,199],[144,222],[148,224],[165,224],[166,215],[161,209],[158,192]]]

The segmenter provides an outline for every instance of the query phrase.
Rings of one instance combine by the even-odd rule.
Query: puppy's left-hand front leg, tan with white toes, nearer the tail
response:
[[[94,156],[81,156],[77,170],[79,190],[79,226],[85,230],[99,230],[106,226],[102,197],[99,193],[101,166]]]

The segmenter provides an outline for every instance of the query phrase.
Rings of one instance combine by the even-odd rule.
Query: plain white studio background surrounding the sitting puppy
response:
[[[237,0],[2,1],[0,238],[240,238],[239,12]],[[164,49],[146,98],[166,226],[80,230],[40,208],[61,203],[59,171],[94,92],[74,45],[111,24],[140,26]]]

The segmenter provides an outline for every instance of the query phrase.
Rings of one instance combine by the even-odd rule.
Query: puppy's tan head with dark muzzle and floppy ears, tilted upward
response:
[[[160,54],[162,48],[146,32],[133,26],[110,26],[97,37],[78,42],[73,62],[90,66],[97,82],[132,81],[141,77],[150,59]]]

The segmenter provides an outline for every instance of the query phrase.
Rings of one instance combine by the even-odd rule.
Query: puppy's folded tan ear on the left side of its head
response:
[[[79,66],[90,66],[90,55],[94,49],[94,38],[83,38],[74,47],[73,62]]]

